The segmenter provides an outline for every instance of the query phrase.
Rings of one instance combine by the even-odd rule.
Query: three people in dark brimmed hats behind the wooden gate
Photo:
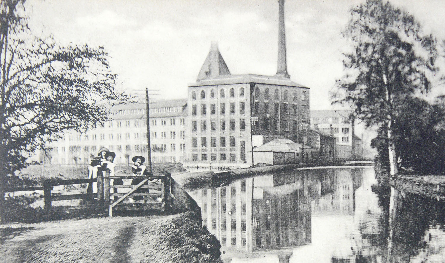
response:
[[[116,158],[116,153],[111,152],[108,148],[101,148],[97,153],[97,157],[93,158],[93,161],[88,166],[88,178],[97,178],[98,173],[102,171],[110,170],[110,177],[114,176],[114,158]],[[148,176],[150,172],[147,171],[147,166],[144,165],[145,158],[142,156],[134,156],[132,158],[134,162],[131,166],[131,171],[134,175]],[[133,179],[132,184],[138,184],[142,182],[143,179]],[[122,179],[113,179],[111,181],[112,185],[123,185]],[[97,182],[89,183],[87,187],[87,193],[97,193]]]

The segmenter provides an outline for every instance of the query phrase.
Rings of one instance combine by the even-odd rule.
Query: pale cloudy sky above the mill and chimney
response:
[[[310,88],[311,109],[331,107],[328,93],[342,76],[348,46],[341,30],[362,2],[285,1],[287,71]],[[445,39],[445,0],[390,2]],[[232,74],[277,69],[276,0],[28,0],[27,12],[37,35],[104,46],[125,89],[158,89],[159,99],[186,97],[212,41]]]

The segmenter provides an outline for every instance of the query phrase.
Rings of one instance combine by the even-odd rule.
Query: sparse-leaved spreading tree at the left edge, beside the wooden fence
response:
[[[103,124],[111,106],[129,99],[115,89],[103,47],[33,36],[24,2],[0,2],[0,202],[7,174],[30,153],[67,129]]]

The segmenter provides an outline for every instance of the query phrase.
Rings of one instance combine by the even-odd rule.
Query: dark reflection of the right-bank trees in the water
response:
[[[390,190],[389,187],[382,186],[373,187],[372,190],[379,198],[379,206],[383,208],[383,213],[378,219],[378,234],[366,238],[373,246],[379,247],[384,252],[387,251],[388,245]],[[393,221],[393,262],[410,262],[415,257],[431,262],[433,254],[443,255],[445,244],[432,244],[429,240],[431,234],[429,234],[429,238],[425,234],[435,226],[444,225],[445,205],[412,194],[406,194],[405,197],[398,194],[395,198],[397,198],[397,207]],[[360,227],[360,234],[362,237],[365,234],[362,233],[362,227]],[[438,235],[445,237],[444,229],[440,229]],[[381,254],[386,261],[386,252]]]

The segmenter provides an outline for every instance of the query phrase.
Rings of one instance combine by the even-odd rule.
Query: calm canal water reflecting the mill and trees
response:
[[[391,195],[372,168],[295,170],[190,195],[225,262],[445,262],[444,206]]]

